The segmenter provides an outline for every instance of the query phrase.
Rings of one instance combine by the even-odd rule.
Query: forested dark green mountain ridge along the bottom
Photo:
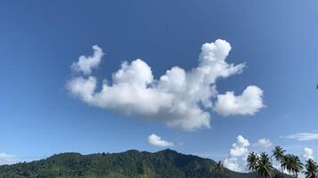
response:
[[[1,178],[255,178],[256,173],[218,169],[209,158],[175,150],[155,153],[128,150],[121,153],[81,155],[63,153],[52,157],[0,166]]]

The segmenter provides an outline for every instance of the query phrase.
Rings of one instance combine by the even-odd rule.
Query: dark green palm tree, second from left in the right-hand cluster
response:
[[[258,174],[264,178],[272,177],[272,169],[271,158],[265,152],[262,152],[256,166]]]

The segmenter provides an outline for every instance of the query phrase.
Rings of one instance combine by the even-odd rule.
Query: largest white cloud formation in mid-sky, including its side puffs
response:
[[[213,109],[217,95],[216,79],[239,74],[245,67],[244,63],[234,65],[225,61],[231,46],[219,39],[202,45],[196,68],[186,71],[173,67],[155,79],[145,61],[125,61],[121,69],[113,73],[112,83],[105,82],[102,89],[96,91],[96,77],[89,74],[104,53],[97,46],[93,48],[93,56],[81,56],[72,64],[74,71],[88,75],[75,76],[67,82],[66,87],[72,94],[93,106],[137,114],[188,131],[210,127],[209,110]],[[251,115],[264,106],[263,91],[256,86],[248,86],[241,96],[233,95],[234,100],[227,94],[218,95],[214,109],[228,113],[224,115]]]

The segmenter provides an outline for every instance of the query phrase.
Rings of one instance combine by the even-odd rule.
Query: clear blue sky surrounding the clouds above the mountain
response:
[[[317,5],[252,0],[1,2],[0,152],[32,159],[66,151],[162,150],[147,142],[156,134],[173,142],[173,150],[221,160],[230,157],[238,135],[250,142],[249,150],[270,150],[253,146],[267,138],[298,155],[304,147],[315,155],[317,140],[297,141],[299,136],[292,134],[315,136],[317,131]],[[173,66],[196,68],[202,44],[217,39],[231,45],[227,62],[246,63],[242,73],[218,79],[217,91],[239,95],[248,85],[262,89],[265,107],[252,116],[224,117],[205,109],[211,128],[188,132],[158,118],[123,114],[121,105],[92,106],[65,87],[74,76],[83,76],[74,74],[71,64],[92,55],[95,44],[105,53],[92,72],[100,90],[103,79],[112,83],[122,61],[142,59],[155,79]]]

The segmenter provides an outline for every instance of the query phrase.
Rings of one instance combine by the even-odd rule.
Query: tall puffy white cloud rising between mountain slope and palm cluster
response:
[[[242,135],[238,135],[237,142],[232,144],[228,158],[224,160],[224,166],[232,171],[247,172],[247,154],[250,143]]]

